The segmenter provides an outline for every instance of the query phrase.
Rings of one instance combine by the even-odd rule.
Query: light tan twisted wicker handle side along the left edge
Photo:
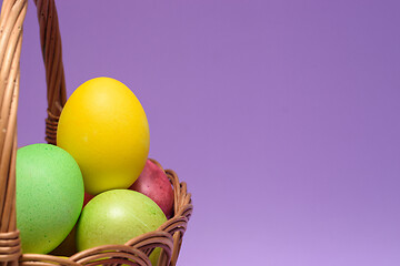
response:
[[[27,0],[4,0],[0,16],[0,264],[18,265],[16,222],[17,108]]]

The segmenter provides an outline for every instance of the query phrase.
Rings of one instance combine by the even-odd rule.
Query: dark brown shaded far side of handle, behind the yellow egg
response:
[[[67,101],[61,35],[54,0],[34,0],[34,3],[37,4],[40,43],[46,68],[48,98],[46,141],[56,145],[58,121]]]

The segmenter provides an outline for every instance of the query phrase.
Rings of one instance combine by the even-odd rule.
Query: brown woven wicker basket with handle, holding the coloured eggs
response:
[[[171,170],[166,170],[166,173],[174,191],[174,215],[157,231],[138,236],[124,245],[98,246],[68,258],[22,254],[16,225],[16,154],[19,59],[27,1],[3,0],[0,18],[0,265],[151,265],[149,255],[156,247],[162,248],[158,265],[176,265],[193,206],[186,183],[179,183]],[[67,101],[61,38],[54,0],[34,2],[48,86],[46,140],[54,144],[58,119]]]

